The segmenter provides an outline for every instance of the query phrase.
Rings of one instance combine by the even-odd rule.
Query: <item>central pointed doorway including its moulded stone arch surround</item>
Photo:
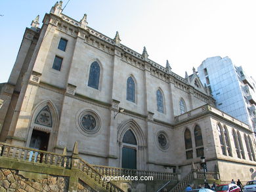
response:
[[[129,119],[118,126],[119,167],[145,168],[146,139],[136,121]]]

